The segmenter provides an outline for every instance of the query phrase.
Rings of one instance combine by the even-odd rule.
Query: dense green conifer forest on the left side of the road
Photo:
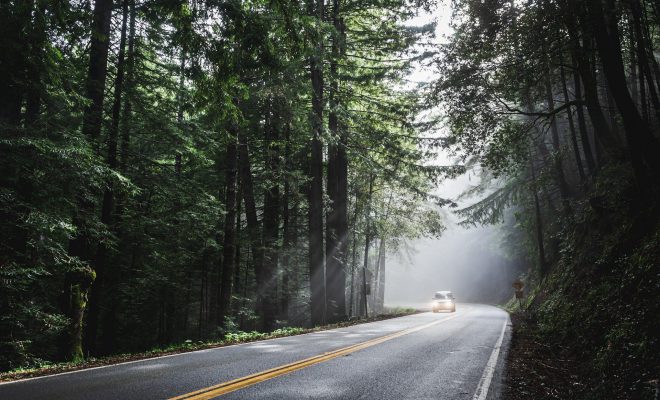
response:
[[[402,81],[429,6],[3,1],[0,369],[382,308],[458,172]]]

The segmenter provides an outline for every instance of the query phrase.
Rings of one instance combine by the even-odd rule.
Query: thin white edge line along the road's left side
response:
[[[49,374],[49,375],[33,376],[31,378],[23,378],[23,379],[17,379],[17,380],[14,380],[14,381],[0,382],[0,386],[19,384],[19,383],[23,383],[23,382],[38,380],[38,379],[53,378],[53,377],[61,376],[61,375],[77,374],[79,372],[93,371],[93,370],[97,370],[97,369],[105,369],[105,368],[123,366],[123,365],[128,365],[128,364],[137,364],[137,363],[141,363],[141,362],[155,361],[155,360],[162,359],[162,358],[179,357],[179,356],[190,355],[190,354],[194,354],[194,353],[204,353],[204,352],[209,352],[209,351],[214,351],[214,350],[224,350],[224,349],[227,349],[227,348],[230,348],[230,347],[247,346],[247,345],[251,345],[251,344],[255,344],[255,343],[259,343],[259,342],[271,341],[271,340],[274,341],[274,340],[281,340],[281,339],[290,339],[290,338],[300,337],[300,336],[316,335],[316,334],[319,334],[319,333],[333,332],[333,331],[338,331],[340,329],[351,328],[351,327],[354,327],[354,326],[364,326],[364,325],[369,325],[369,324],[376,324],[378,322],[383,322],[383,321],[391,321],[391,320],[394,320],[394,319],[397,319],[397,318],[416,317],[416,316],[419,316],[421,314],[425,314],[425,313],[410,314],[410,315],[404,315],[404,316],[401,316],[401,317],[394,317],[394,318],[384,319],[384,320],[380,320],[380,321],[365,322],[363,324],[349,325],[349,326],[346,326],[346,327],[343,327],[343,328],[333,328],[333,329],[326,329],[326,330],[320,330],[320,331],[314,331],[314,332],[308,332],[308,333],[301,333],[300,335],[291,335],[291,336],[282,336],[282,337],[269,338],[269,339],[261,339],[261,340],[255,340],[255,341],[252,341],[252,342],[246,342],[246,343],[236,343],[236,344],[230,344],[230,345],[227,345],[227,346],[209,347],[209,348],[201,349],[201,350],[185,351],[183,353],[166,354],[164,356],[154,356],[154,357],[148,357],[148,358],[141,358],[139,360],[122,361],[122,362],[118,362],[116,364],[99,365],[98,367],[81,368],[81,369],[76,369],[76,370],[73,370],[73,371],[58,372],[58,373]]]

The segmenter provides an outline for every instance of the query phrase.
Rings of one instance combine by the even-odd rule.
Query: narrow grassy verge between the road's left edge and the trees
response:
[[[142,353],[129,353],[118,354],[102,358],[89,358],[81,362],[67,362],[67,363],[47,363],[36,368],[17,369],[0,373],[0,382],[11,382],[20,379],[35,378],[39,376],[59,374],[63,372],[78,371],[87,368],[102,367],[106,365],[120,364],[129,361],[145,360],[149,358],[162,357],[172,354],[188,353],[197,350],[212,349],[217,347],[231,346],[241,343],[256,342],[260,340],[275,339],[286,336],[303,335],[306,333],[343,328],[352,325],[359,325],[368,322],[382,321],[385,319],[403,317],[406,315],[417,314],[421,310],[412,308],[396,308],[387,310],[384,314],[379,314],[369,318],[355,318],[348,321],[317,326],[314,328],[280,328],[273,332],[232,332],[224,336],[222,340],[216,341],[191,341],[187,340],[183,343],[172,344],[164,348],[156,348]]]

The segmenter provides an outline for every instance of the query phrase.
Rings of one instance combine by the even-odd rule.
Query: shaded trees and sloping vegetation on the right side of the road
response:
[[[525,283],[505,398],[657,398],[657,2],[454,4],[434,101],[481,177],[458,214]]]

